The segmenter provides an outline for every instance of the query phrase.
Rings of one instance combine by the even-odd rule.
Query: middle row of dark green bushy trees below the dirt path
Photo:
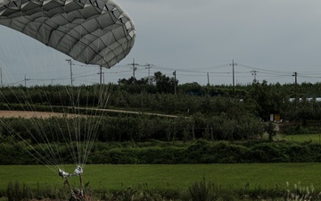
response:
[[[95,135],[100,142],[150,140],[177,141],[198,138],[208,140],[247,140],[261,138],[268,124],[258,118],[243,116],[230,120],[225,114],[207,117],[194,114],[168,118],[155,115],[78,116],[51,118],[1,118],[0,137],[18,136],[31,144],[86,140]],[[64,142],[64,141],[62,141]]]

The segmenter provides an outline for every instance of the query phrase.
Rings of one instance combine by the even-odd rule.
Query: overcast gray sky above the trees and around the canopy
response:
[[[115,0],[136,25],[136,44],[127,58],[104,71],[105,82],[161,71],[179,83],[231,85],[254,79],[268,83],[321,80],[321,1],[310,0]],[[69,83],[65,59],[37,41],[0,27],[4,84]],[[49,50],[48,50],[49,49]],[[41,55],[41,58],[39,56]],[[62,67],[63,66],[63,67]],[[62,68],[62,69],[61,69]],[[97,67],[76,63],[74,82],[99,82]],[[209,73],[209,80],[208,75]]]

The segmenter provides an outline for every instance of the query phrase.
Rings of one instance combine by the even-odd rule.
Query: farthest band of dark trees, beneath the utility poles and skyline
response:
[[[142,113],[192,115],[202,113],[231,119],[237,113],[269,120],[278,113],[284,121],[321,120],[321,83],[268,84],[252,83],[246,86],[200,86],[197,83],[177,85],[174,94],[172,80],[168,85],[119,81],[119,84],[93,86],[36,86],[4,87],[0,93],[0,108],[12,110],[51,111],[70,113],[67,106],[119,108]],[[64,109],[62,110],[62,107]],[[67,108],[66,108],[67,107]]]

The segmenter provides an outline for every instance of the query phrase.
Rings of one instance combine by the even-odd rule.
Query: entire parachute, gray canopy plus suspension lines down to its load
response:
[[[111,68],[125,58],[136,38],[133,21],[119,4],[111,0],[0,0],[0,24],[35,38],[45,46],[51,46],[80,63],[106,68]],[[51,126],[55,130],[46,130],[43,118],[37,117],[30,118],[27,123],[18,123],[21,124],[23,132],[12,127],[5,118],[0,118],[0,122],[25,151],[53,172],[58,171],[58,175],[65,179],[68,185],[67,178],[71,176],[79,176],[81,183],[83,168],[99,124],[103,121],[102,111],[84,108],[83,102],[86,102],[88,107],[103,108],[110,95],[105,88],[93,86],[99,96],[96,96],[96,99],[85,97],[80,100],[80,95],[85,96],[88,93],[88,96],[92,96],[89,95],[91,92],[82,91],[85,87],[78,87],[78,91],[72,90],[72,84],[71,89],[57,88],[58,91],[54,92],[56,98],[59,99],[61,94],[68,94],[70,97],[63,99],[61,96],[58,100],[62,102],[62,117],[50,117]],[[20,105],[23,112],[37,112],[35,105],[39,103],[34,102],[34,95],[31,96],[24,89],[14,90],[15,100],[12,102],[4,95],[3,88],[0,91],[0,102],[7,104],[10,111],[15,111],[15,106],[10,105],[15,103]],[[40,105],[55,113],[56,105],[48,105],[53,102],[53,95],[39,91],[36,96],[42,102]],[[31,130],[30,125],[36,129]],[[26,135],[29,135],[29,138],[26,139]],[[33,143],[37,143],[40,148],[35,149]],[[65,153],[70,153],[77,165],[73,173],[64,172],[61,168],[65,163],[62,161],[62,143],[67,149]],[[70,190],[73,192],[71,188]],[[82,184],[80,190],[82,191]]]

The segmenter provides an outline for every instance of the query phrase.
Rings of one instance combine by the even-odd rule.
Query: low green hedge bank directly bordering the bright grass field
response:
[[[46,153],[42,145],[35,152]],[[59,145],[65,163],[73,163],[67,145]],[[49,149],[49,147],[47,147]],[[321,145],[315,143],[210,142],[189,143],[95,143],[87,163],[177,164],[177,163],[320,163]],[[38,161],[18,144],[0,144],[0,164],[37,164]]]

